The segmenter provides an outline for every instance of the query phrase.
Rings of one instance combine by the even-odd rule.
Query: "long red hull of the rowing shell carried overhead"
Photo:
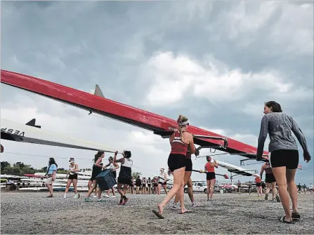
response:
[[[114,119],[119,119],[120,121],[126,121],[149,130],[169,130],[169,128],[176,128],[177,126],[176,120],[174,119],[169,119],[165,116],[153,114],[152,112],[147,112],[143,109],[137,109],[81,90],[76,90],[51,81],[37,79],[25,74],[1,70],[1,83],[29,90],[33,93],[38,93],[55,100],[72,103],[72,105],[77,105],[84,109],[92,109],[94,112],[110,116]],[[222,135],[195,126],[189,126],[189,132],[195,135],[223,137]],[[204,142],[208,142],[208,145],[223,145],[223,141],[221,140],[203,140]],[[228,139],[228,148],[223,151],[255,154],[256,150],[256,147],[244,144],[237,140]],[[264,152],[264,154],[268,154],[268,152]]]

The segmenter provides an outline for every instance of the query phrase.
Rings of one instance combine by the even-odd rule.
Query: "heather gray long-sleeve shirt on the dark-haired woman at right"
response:
[[[259,133],[259,141],[257,147],[257,159],[261,159],[263,154],[264,143],[269,134],[270,143],[268,152],[273,152],[278,149],[295,149],[298,150],[296,140],[292,136],[292,132],[296,135],[304,153],[308,152],[306,138],[301,129],[296,124],[296,121],[291,116],[282,112],[272,112],[263,116],[261,121],[261,130]]]

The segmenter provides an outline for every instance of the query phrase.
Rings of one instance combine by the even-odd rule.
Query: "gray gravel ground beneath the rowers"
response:
[[[170,203],[164,220],[152,209],[165,194],[129,195],[126,206],[118,206],[117,198],[84,202],[81,195],[63,199],[56,192],[47,199],[45,192],[1,192],[1,234],[313,234],[314,229],[314,194],[299,194],[301,220],[295,224],[279,221],[281,203],[256,194],[214,194],[211,202],[195,194],[197,208],[185,194],[192,212],[180,215]]]

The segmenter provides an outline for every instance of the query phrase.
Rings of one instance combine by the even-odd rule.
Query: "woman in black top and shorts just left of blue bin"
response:
[[[104,156],[105,156],[105,152],[103,151],[98,151],[97,154],[95,154],[95,158],[93,160],[94,161],[93,171],[91,172],[91,181],[93,183],[93,186],[89,189],[89,192],[86,194],[86,199],[84,199],[84,201],[92,201],[92,199],[89,196],[91,196],[91,193],[97,187],[96,176],[99,175],[99,173],[103,169],[103,163],[101,161],[103,161]],[[102,201],[100,189],[98,189],[98,201]]]

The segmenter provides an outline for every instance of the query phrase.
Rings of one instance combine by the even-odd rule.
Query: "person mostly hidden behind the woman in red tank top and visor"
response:
[[[195,148],[195,156],[199,155],[198,149]],[[192,154],[190,153],[190,149],[188,148],[188,151],[186,152],[186,157],[185,157],[185,173],[184,173],[184,187],[185,185],[188,185],[188,196],[190,198],[190,201],[192,202],[192,207],[197,207],[195,201],[194,201],[194,195],[193,195],[193,183],[191,179],[192,175],[192,169],[193,169],[193,163],[192,163]],[[173,210],[180,209],[178,207],[178,193],[176,194],[176,197],[174,199],[174,205],[172,206]]]

